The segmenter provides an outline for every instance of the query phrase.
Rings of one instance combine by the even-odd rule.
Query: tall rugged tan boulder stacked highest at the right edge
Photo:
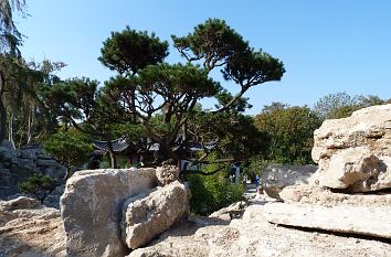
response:
[[[347,192],[391,188],[391,105],[326,120],[314,133],[311,183]]]

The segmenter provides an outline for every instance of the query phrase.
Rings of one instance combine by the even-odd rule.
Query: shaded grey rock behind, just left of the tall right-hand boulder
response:
[[[262,186],[266,194],[281,199],[279,192],[288,185],[307,184],[316,165],[270,165],[262,172]]]

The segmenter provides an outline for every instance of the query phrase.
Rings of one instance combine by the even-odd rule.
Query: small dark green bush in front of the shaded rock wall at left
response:
[[[18,188],[21,192],[34,195],[41,203],[43,203],[46,196],[52,193],[56,186],[56,180],[43,174],[34,174],[27,181],[18,183]]]

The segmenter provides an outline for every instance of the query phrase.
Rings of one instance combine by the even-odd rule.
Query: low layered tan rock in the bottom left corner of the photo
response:
[[[64,257],[65,233],[59,210],[36,200],[0,201],[0,256]]]

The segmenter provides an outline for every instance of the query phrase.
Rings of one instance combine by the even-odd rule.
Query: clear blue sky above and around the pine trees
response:
[[[251,46],[285,64],[281,82],[246,93],[257,114],[281,101],[311,107],[336,92],[391,98],[391,1],[388,0],[27,0],[27,60],[62,61],[62,78],[86,76],[101,82],[115,75],[97,57],[102,42],[126,25],[186,35],[208,18],[219,18]],[[168,62],[182,61],[173,49]],[[222,82],[224,85],[224,82]],[[234,86],[229,85],[234,92]]]

